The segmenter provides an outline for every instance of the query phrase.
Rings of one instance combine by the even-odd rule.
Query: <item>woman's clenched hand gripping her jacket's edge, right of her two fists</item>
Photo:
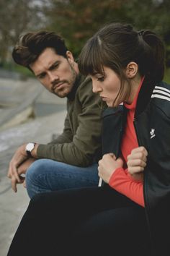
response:
[[[136,180],[143,181],[143,171],[146,167],[148,152],[144,147],[134,148],[128,155],[128,172]]]

